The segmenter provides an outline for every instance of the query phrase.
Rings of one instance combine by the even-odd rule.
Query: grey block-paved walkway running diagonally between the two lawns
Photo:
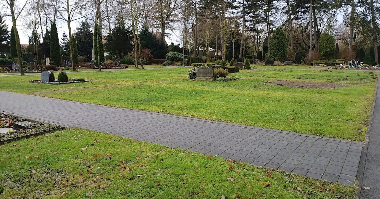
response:
[[[0,91],[0,112],[353,185],[363,143]]]

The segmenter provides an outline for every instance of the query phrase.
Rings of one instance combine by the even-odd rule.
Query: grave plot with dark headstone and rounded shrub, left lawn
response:
[[[92,80],[86,80],[85,78],[71,78],[67,77],[66,72],[60,72],[58,79],[55,80],[54,73],[50,71],[41,72],[41,80],[30,80],[31,83],[43,83],[43,84],[70,84],[70,83],[82,83]]]

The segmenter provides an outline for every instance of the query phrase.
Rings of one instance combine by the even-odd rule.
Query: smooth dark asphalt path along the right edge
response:
[[[359,167],[358,195],[361,199],[380,198],[380,81],[377,82],[375,104],[363,147]],[[362,179],[362,180],[360,180]]]

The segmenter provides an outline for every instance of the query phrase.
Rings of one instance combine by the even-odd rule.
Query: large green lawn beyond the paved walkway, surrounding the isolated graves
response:
[[[364,140],[374,99],[376,71],[314,70],[309,66],[242,70],[230,82],[192,81],[189,68],[71,73],[95,80],[72,85],[40,85],[25,77],[2,77],[1,90],[136,110],[275,128],[292,132]],[[299,70],[295,70],[301,67]],[[292,69],[293,68],[293,69]],[[335,82],[335,89],[287,87],[274,80]],[[106,87],[105,87],[106,85]],[[90,87],[65,92],[41,93]],[[36,93],[38,92],[38,93]]]

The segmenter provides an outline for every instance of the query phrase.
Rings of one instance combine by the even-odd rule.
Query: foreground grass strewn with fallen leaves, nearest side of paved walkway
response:
[[[355,197],[354,187],[80,128],[11,142],[0,153],[0,198]]]

